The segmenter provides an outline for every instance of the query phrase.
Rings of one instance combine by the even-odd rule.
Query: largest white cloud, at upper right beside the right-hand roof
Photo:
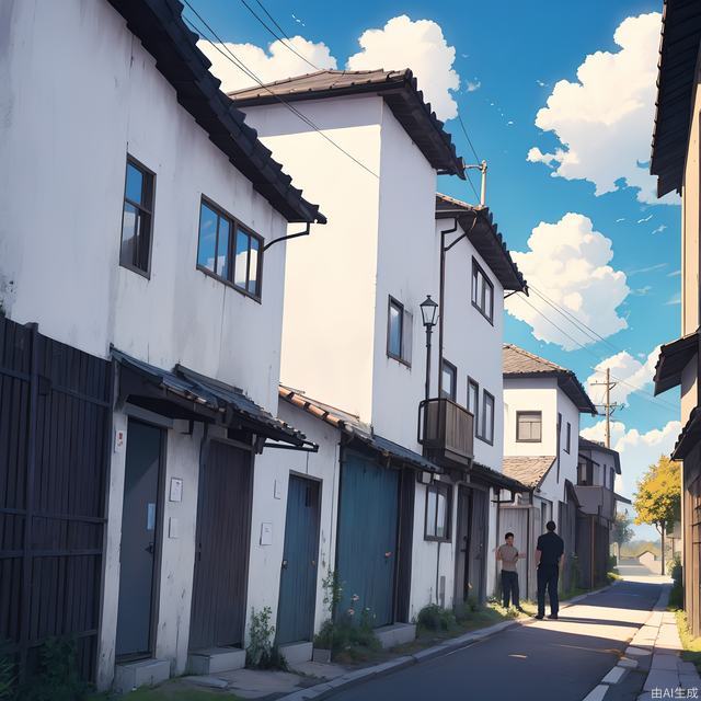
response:
[[[660,14],[631,16],[618,26],[613,41],[620,50],[596,51],[577,68],[577,80],[555,83],[536,126],[553,131],[560,141],[554,152],[538,148],[531,162],[548,163],[552,175],[587,180],[596,194],[618,189],[625,179],[639,188],[637,199],[650,204],[678,204],[679,198],[655,195],[655,179],[647,164],[653,129]]]

